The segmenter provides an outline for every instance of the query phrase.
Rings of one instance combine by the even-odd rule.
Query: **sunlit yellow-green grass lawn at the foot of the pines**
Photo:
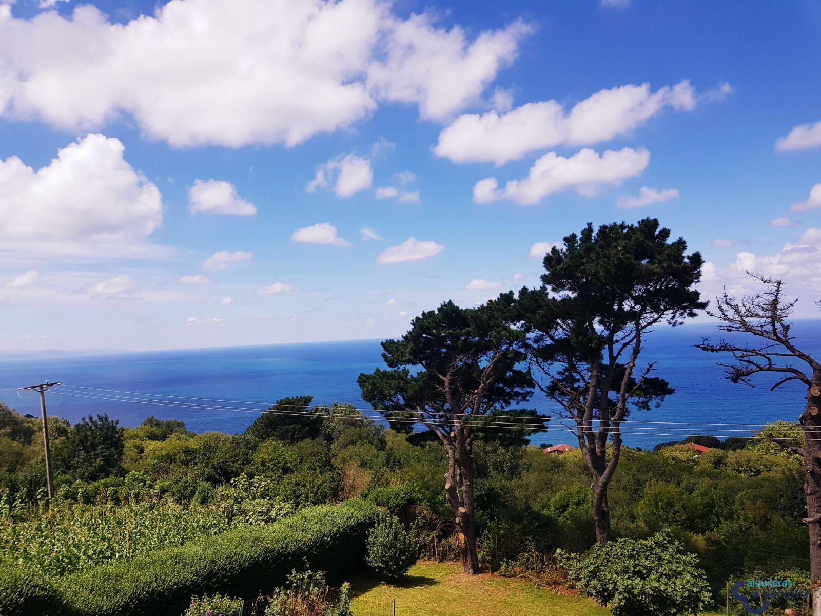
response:
[[[351,580],[354,616],[383,616],[397,600],[397,616],[610,616],[593,600],[545,591],[488,573],[466,576],[456,563],[420,561],[399,582],[370,577]]]

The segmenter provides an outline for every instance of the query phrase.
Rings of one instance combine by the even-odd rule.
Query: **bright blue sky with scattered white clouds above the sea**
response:
[[[819,57],[809,1],[0,0],[0,348],[398,335],[644,216],[814,315]]]

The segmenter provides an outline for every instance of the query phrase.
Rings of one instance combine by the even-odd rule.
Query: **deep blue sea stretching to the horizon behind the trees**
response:
[[[800,345],[810,352],[821,351],[821,320],[796,321],[795,329]],[[796,420],[803,407],[803,386],[787,384],[771,393],[769,386],[776,379],[769,375],[756,379],[758,388],[733,385],[722,379],[722,368],[716,365],[717,361],[727,361],[727,357],[693,347],[704,336],[715,338],[714,326],[688,324],[676,329],[660,328],[649,336],[641,361],[656,361],[654,375],[667,379],[676,393],[667,398],[661,408],[637,411],[631,416],[623,428],[627,444],[650,448],[693,432],[719,436],[747,434],[735,431],[747,426],[707,424],[760,425],[764,421]],[[379,342],[311,342],[99,356],[7,356],[0,359],[0,400],[22,413],[39,415],[37,394],[25,393],[21,398],[13,389],[49,379],[67,386],[244,402],[271,403],[285,396],[308,394],[314,397],[314,404],[348,402],[365,408],[356,377],[360,372],[383,366]],[[65,395],[67,391],[68,387],[63,388],[62,393],[48,394],[48,412],[72,423],[89,413],[108,413],[121,425],[132,426],[153,415],[183,420],[196,432],[237,433],[245,430],[256,416],[222,409],[77,398]],[[535,393],[531,402],[522,406],[539,411],[553,408],[540,393]],[[654,421],[665,423],[651,423]],[[572,444],[573,439],[560,420],[553,420],[547,433],[536,434],[532,440],[537,444]]]

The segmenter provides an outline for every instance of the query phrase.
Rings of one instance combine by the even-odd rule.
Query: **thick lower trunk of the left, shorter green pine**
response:
[[[456,522],[462,566],[468,575],[479,572],[476,549],[475,504],[473,497],[475,468],[470,456],[470,442],[464,429],[456,428],[454,444],[447,448],[448,471],[445,493]]]

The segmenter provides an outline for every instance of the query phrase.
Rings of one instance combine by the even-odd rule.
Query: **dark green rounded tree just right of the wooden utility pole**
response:
[[[123,442],[119,422],[108,415],[88,416],[74,425],[55,457],[77,479],[94,481],[118,474]]]

